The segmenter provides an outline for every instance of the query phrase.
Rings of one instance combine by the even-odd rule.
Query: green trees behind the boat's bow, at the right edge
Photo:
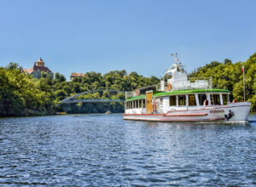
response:
[[[233,64],[230,59],[224,62],[212,61],[190,73],[189,77],[212,77],[212,88],[230,90],[231,99],[243,101],[243,72],[245,70],[246,100],[252,102],[252,110],[256,111],[256,53],[246,62]]]

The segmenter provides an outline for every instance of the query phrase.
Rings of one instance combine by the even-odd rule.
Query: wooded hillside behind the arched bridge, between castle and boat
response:
[[[157,84],[160,80],[157,77],[143,77],[138,75],[137,72],[131,72],[128,75],[126,71],[110,71],[102,75],[101,73],[91,71],[85,73],[85,76],[82,78],[75,77],[71,82],[66,82],[65,77],[56,73],[53,81],[53,92],[57,102],[74,94],[90,90],[115,89],[130,91]],[[104,91],[80,95],[78,99],[125,99],[125,94]],[[117,102],[62,104],[58,106],[58,111],[65,111],[67,113],[124,112],[124,104]]]

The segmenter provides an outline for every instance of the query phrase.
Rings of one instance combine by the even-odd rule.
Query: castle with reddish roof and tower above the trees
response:
[[[33,75],[33,77],[41,78],[41,72],[44,71],[50,75],[51,78],[54,77],[54,73],[49,70],[48,67],[44,66],[44,60],[39,58],[37,62],[34,63],[32,69],[23,69],[26,74]]]

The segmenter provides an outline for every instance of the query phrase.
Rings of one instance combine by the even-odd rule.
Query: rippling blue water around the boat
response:
[[[0,119],[0,185],[256,185],[247,125],[123,121],[122,115]]]

